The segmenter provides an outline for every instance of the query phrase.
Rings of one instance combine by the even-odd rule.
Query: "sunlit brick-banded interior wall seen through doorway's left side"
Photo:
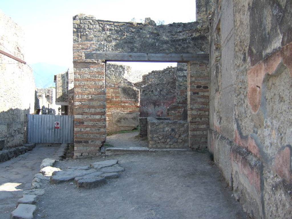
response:
[[[124,78],[131,68],[106,64],[106,124],[107,133],[133,130],[139,125],[139,90]]]

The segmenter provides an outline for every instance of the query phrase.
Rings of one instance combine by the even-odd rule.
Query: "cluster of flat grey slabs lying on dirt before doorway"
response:
[[[54,171],[50,178],[52,184],[74,180],[77,187],[94,188],[107,183],[108,179],[118,178],[124,168],[118,160],[105,160],[90,166],[68,167],[67,170]]]

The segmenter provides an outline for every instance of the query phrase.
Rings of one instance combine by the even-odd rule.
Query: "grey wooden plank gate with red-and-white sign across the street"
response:
[[[73,116],[28,115],[28,143],[73,143],[73,138]]]

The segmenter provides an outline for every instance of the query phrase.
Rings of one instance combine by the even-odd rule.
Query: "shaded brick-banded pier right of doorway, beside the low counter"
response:
[[[207,147],[209,126],[209,71],[207,62],[190,62],[187,71],[187,121],[189,147]]]

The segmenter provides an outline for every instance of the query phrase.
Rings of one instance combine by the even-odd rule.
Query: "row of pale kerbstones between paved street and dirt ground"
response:
[[[40,165],[40,171],[46,166],[54,166],[55,162],[62,160],[65,157],[66,151],[68,149],[68,144],[61,144],[59,149],[53,155],[53,158],[43,159]],[[38,196],[45,194],[45,189],[42,188],[42,180],[49,180],[49,177],[42,175],[42,173],[37,173],[34,175],[32,180],[32,186],[30,190],[22,192],[22,198],[18,200],[17,208],[11,212],[11,219],[16,218],[34,218],[37,212],[37,202]],[[31,200],[25,200],[27,202],[23,203],[25,198],[31,198]],[[25,211],[23,209],[25,208]]]

